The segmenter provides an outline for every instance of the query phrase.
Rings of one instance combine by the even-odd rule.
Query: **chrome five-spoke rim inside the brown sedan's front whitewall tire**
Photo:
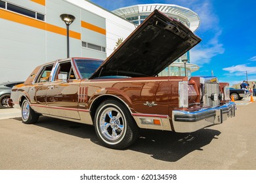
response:
[[[123,134],[123,114],[116,108],[106,108],[100,116],[100,131],[110,140],[116,141]]]

